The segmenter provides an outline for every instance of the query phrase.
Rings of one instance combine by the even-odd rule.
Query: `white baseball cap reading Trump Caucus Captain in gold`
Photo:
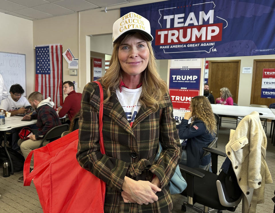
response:
[[[113,25],[113,44],[126,32],[140,32],[145,35],[149,41],[153,40],[151,35],[150,22],[141,15],[130,12],[120,17]]]

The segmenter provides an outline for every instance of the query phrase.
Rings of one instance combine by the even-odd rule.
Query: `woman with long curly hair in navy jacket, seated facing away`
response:
[[[202,158],[204,152],[202,148],[214,140],[217,131],[216,122],[209,100],[204,96],[192,98],[190,112],[185,113],[179,128],[180,139],[187,139],[181,164],[192,168],[206,168],[210,163],[210,155]]]

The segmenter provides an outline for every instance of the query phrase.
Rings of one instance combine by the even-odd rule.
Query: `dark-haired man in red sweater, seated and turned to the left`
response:
[[[58,115],[62,118],[67,113],[71,121],[81,108],[82,93],[75,92],[75,85],[71,81],[63,83],[63,92],[64,95],[68,94],[68,96],[65,98],[63,106],[58,107]]]

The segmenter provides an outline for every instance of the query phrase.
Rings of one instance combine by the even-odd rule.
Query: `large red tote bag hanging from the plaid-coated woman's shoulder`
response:
[[[99,86],[100,150],[105,154],[102,136],[103,90]],[[78,130],[75,130],[32,150],[25,160],[24,186],[29,186],[33,179],[44,213],[104,212],[106,183],[79,165],[77,145]],[[32,155],[34,170],[30,173]]]

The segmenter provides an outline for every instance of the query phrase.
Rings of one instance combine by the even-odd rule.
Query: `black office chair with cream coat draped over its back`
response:
[[[213,173],[179,164],[180,171],[187,182],[187,188],[181,194],[186,196],[188,201],[183,202],[182,211],[186,211],[186,206],[202,213],[213,210],[218,210],[219,213],[222,210],[235,211],[241,202],[242,191],[231,164],[227,174],[221,171],[217,175],[218,156],[225,157],[226,154],[212,148],[203,149],[211,153]],[[194,205],[195,203],[202,204],[204,208],[200,209]]]

